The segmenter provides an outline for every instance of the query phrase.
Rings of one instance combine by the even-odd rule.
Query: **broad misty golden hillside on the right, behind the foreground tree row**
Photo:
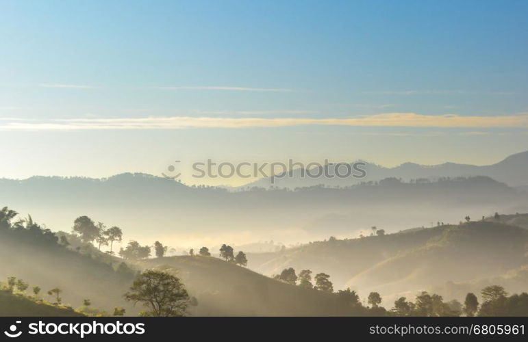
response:
[[[284,252],[250,254],[248,259],[264,274],[284,267],[309,268],[330,274],[338,287],[388,294],[503,274],[527,263],[527,243],[528,231],[523,228],[471,222],[323,241]]]

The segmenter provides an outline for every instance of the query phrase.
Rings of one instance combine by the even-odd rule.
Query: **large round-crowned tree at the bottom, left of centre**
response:
[[[149,269],[134,280],[125,299],[149,308],[142,315],[179,317],[186,313],[189,295],[179,278]]]

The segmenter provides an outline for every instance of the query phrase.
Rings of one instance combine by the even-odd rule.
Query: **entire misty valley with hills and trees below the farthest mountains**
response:
[[[528,315],[523,180],[389,176],[2,179],[0,315]]]

